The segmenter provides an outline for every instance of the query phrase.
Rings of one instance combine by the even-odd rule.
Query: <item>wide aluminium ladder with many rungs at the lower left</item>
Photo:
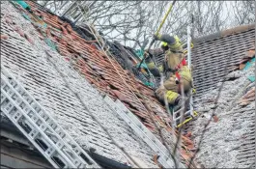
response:
[[[1,66],[1,112],[55,168],[100,168]]]

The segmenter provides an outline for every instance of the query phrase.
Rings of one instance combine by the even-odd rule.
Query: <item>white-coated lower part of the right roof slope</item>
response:
[[[213,110],[213,99],[216,99],[221,82],[207,95],[197,98],[197,108],[204,110],[205,117],[199,117],[191,125],[195,145],[199,142],[202,130],[213,111],[218,122],[211,122],[203,137],[200,152],[196,156],[199,163],[206,168],[246,168],[255,162],[255,101],[242,107],[238,101],[246,91],[255,86],[247,77],[254,73],[255,63],[249,70],[237,70],[237,79],[225,81]],[[212,108],[211,108],[212,107]],[[253,141],[254,140],[254,141]]]

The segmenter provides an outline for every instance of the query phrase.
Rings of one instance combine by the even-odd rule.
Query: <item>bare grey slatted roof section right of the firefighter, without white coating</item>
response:
[[[193,40],[193,80],[200,97],[213,89],[254,48],[255,24],[242,25]]]

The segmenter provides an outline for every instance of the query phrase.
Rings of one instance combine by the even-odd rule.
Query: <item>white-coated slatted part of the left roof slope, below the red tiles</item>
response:
[[[30,35],[35,45],[10,28],[5,22],[7,15]],[[44,50],[50,48],[40,40],[30,21],[18,14],[7,1],[1,2],[1,31],[9,35],[8,40],[1,41],[1,66],[14,73],[30,94],[80,146],[86,150],[94,148],[96,153],[122,163],[128,162],[128,158],[90,116],[90,111],[129,155],[139,159],[145,167],[156,168],[152,161],[155,153],[108,107],[100,93],[85,78],[80,77],[76,70],[71,70],[69,62],[57,52],[51,51],[53,60],[59,65],[58,69],[66,74],[65,78],[70,82],[72,90],[83,99],[88,110],[71,93],[60,73],[46,59]]]

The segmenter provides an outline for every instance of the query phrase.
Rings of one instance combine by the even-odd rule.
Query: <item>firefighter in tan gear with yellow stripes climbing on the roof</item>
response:
[[[167,34],[155,36],[156,41],[161,41],[161,48],[164,51],[164,60],[160,67],[156,68],[152,54],[145,59],[148,69],[154,76],[159,77],[162,72],[165,75],[163,85],[156,89],[156,98],[161,102],[166,97],[169,105],[179,109],[182,106],[181,86],[187,93],[192,87],[191,73],[185,63],[185,54],[180,39]],[[186,100],[187,98],[185,98]]]

